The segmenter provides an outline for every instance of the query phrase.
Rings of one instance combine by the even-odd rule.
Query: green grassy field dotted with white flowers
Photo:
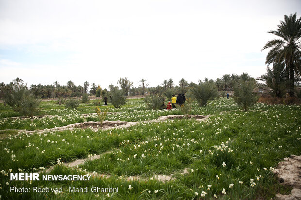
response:
[[[0,130],[41,130],[71,123],[97,121],[92,103],[78,110],[55,101],[41,102],[38,119],[18,116],[0,104]],[[179,110],[148,110],[142,99],[131,99],[122,108],[107,106],[107,120],[144,121],[181,114]],[[100,106],[104,109],[104,106]],[[301,106],[255,104],[242,112],[233,99],[220,98],[206,107],[193,105],[194,119],[141,122],[129,128],[75,129],[27,135],[2,132],[0,140],[0,195],[2,199],[270,199],[290,193],[278,184],[272,171],[283,158],[301,149]],[[91,160],[92,154],[100,159]],[[79,158],[75,168],[56,165]],[[50,174],[91,174],[90,181],[9,181],[9,173],[36,172],[55,165]],[[183,174],[184,169],[188,173]],[[43,173],[46,173],[45,171]],[[101,176],[102,174],[110,177]],[[170,175],[159,181],[156,175]],[[134,176],[134,180],[128,177]],[[10,193],[18,188],[93,187],[117,188],[118,193]]]

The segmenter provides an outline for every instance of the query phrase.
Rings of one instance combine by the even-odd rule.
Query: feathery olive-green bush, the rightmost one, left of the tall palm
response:
[[[257,93],[254,92],[257,87],[254,79],[249,81],[240,81],[234,85],[234,101],[238,106],[243,108],[244,111],[247,111],[248,108],[255,104],[258,101]]]

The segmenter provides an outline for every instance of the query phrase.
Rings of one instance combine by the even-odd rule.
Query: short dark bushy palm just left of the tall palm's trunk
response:
[[[264,81],[265,86],[272,89],[277,97],[282,97],[286,82],[285,75],[286,69],[284,68],[284,63],[278,62],[273,64],[273,69],[267,67],[267,73],[261,75],[257,80]]]

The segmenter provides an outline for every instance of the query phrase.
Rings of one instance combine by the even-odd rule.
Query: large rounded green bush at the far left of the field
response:
[[[37,99],[26,85],[18,85],[4,95],[4,102],[11,106],[15,112],[33,117],[39,111],[38,107],[41,100]]]

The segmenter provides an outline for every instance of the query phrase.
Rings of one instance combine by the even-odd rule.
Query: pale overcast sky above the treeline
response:
[[[295,12],[301,0],[0,0],[0,82],[256,78],[267,31]]]

